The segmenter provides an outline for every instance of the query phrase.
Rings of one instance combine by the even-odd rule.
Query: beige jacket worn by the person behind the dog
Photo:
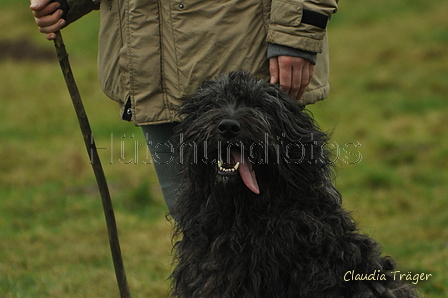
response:
[[[79,13],[82,9],[76,7],[91,1],[69,0],[69,5]],[[136,125],[177,121],[180,98],[205,80],[232,70],[246,70],[268,80],[266,50],[268,43],[275,43],[319,53],[314,77],[302,98],[305,104],[314,103],[329,92],[324,27],[337,3],[102,0],[101,87],[120,103],[122,118]],[[316,13],[318,24],[309,24]]]

